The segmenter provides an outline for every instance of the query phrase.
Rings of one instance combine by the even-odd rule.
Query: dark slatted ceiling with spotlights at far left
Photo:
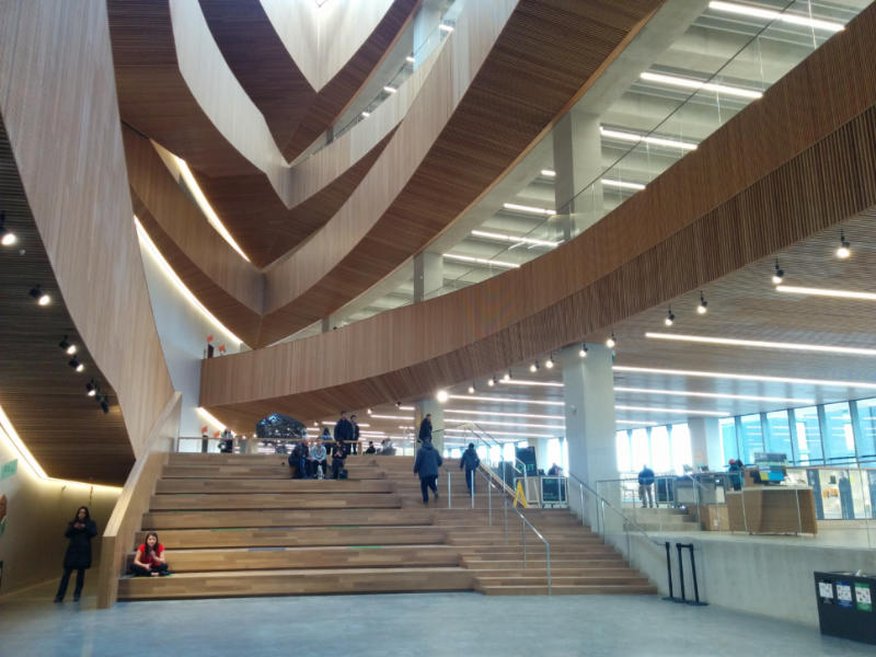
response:
[[[49,476],[120,485],[134,464],[134,452],[118,400],[58,291],[4,125],[0,126],[0,198],[5,227],[19,239],[12,247],[0,246],[0,406]],[[37,283],[51,296],[49,306],[38,306],[28,295]],[[65,335],[77,345],[84,372],[67,365],[70,356],[58,346]],[[85,394],[91,378],[110,395],[108,414]]]

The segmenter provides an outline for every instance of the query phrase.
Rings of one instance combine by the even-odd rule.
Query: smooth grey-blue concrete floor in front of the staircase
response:
[[[155,655],[868,655],[874,646],[716,607],[656,597],[489,598],[400,593],[53,604],[55,585],[0,602],[0,654]],[[88,591],[88,585],[87,585]],[[359,610],[355,613],[351,610]],[[330,620],[341,618],[330,627]]]

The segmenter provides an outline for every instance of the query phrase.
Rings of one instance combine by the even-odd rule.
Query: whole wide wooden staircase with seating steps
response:
[[[424,506],[411,457],[350,457],[346,481],[291,480],[278,456],[172,454],[142,531],[157,531],[172,577],[123,577],[120,600],[479,590],[546,593],[544,548],[486,483],[471,497],[456,462]],[[440,484],[443,484],[441,486]],[[460,508],[464,505],[463,508]],[[529,509],[551,543],[553,593],[656,589],[564,510]],[[131,553],[132,557],[132,553]]]

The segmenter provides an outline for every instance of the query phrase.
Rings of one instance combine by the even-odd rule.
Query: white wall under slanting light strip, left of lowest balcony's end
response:
[[[140,255],[143,260],[146,283],[152,302],[164,360],[175,390],[183,393],[180,436],[200,436],[200,427],[208,425],[210,435],[219,426],[207,422],[197,413],[200,394],[200,361],[207,336],[214,335],[214,345],[224,344],[228,354],[237,354],[240,343],[217,321],[211,321],[194,306],[168,273],[166,263],[140,233]],[[178,280],[178,279],[177,279]],[[255,428],[253,427],[253,430]]]

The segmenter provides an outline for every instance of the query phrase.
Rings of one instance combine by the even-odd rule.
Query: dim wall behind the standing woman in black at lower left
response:
[[[85,574],[85,591],[95,590],[100,534],[120,488],[92,488],[87,484],[41,480],[0,428],[0,468],[13,460],[18,460],[15,474],[0,480],[0,495],[5,495],[8,499],[5,528],[0,535],[0,561],[3,562],[0,596],[60,578],[68,544],[64,532],[80,506],[89,507],[92,519],[97,523],[99,534],[92,540],[93,565]],[[72,588],[68,595],[72,595]]]

